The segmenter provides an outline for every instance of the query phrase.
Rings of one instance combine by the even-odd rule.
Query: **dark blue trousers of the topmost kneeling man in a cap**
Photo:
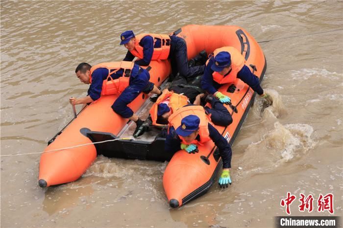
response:
[[[169,58],[172,62],[172,74],[176,76],[177,72],[186,78],[193,78],[202,74],[205,65],[189,67],[187,59],[187,45],[184,39],[177,36],[171,37],[171,50]]]

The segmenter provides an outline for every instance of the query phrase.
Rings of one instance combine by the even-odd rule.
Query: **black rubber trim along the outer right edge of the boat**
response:
[[[265,75],[266,69],[267,69],[267,60],[266,60],[266,57],[265,57],[265,66],[264,66],[264,68],[263,68],[263,70],[261,72],[260,83],[263,80],[263,77]],[[242,125],[244,123],[245,117],[246,117],[246,115],[248,114],[248,112],[250,110],[250,107],[251,107],[251,105],[252,105],[252,103],[254,101],[255,95],[256,95],[256,92],[254,92],[254,94],[252,95],[251,100],[250,100],[248,106],[246,107],[245,112],[244,112],[244,114],[243,114],[239,124],[237,125],[237,128],[236,128],[233,136],[231,137],[231,140],[229,142],[230,146],[232,146],[236,136],[238,135],[239,130],[241,129],[241,127],[242,127]],[[223,134],[225,132],[226,128],[224,129],[224,131],[221,134]],[[214,147],[211,150],[210,154],[208,155],[208,158],[212,154],[212,152],[214,151],[215,148],[216,147]],[[192,200],[196,199],[197,197],[205,194],[208,191],[208,189],[211,187],[211,185],[213,184],[213,182],[215,181],[215,179],[217,177],[217,174],[218,174],[218,172],[219,172],[219,170],[221,168],[221,164],[222,164],[222,160],[220,160],[220,162],[218,162],[217,167],[215,169],[215,172],[213,173],[213,175],[211,176],[211,178],[210,178],[210,180],[208,182],[204,183],[202,186],[200,186],[199,188],[194,190],[191,194],[187,195],[186,197],[184,197],[182,199],[182,204],[183,205],[186,204],[187,202],[192,201]]]

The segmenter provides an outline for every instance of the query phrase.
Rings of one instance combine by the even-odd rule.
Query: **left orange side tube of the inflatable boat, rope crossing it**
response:
[[[168,60],[151,61],[149,70],[150,81],[156,86],[169,76],[171,65]],[[88,105],[73,121],[49,141],[45,151],[55,150],[75,145],[91,143],[92,141],[82,134],[81,129],[92,129],[99,132],[108,132],[117,135],[126,125],[128,119],[122,118],[113,112],[111,105],[119,95],[101,96]],[[128,106],[137,110],[148,100],[146,94],[141,93]],[[56,152],[43,153],[39,163],[39,181],[41,187],[73,182],[86,171],[97,157],[94,145],[87,145]]]

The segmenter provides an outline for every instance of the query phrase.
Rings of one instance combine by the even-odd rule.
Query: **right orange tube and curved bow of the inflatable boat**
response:
[[[196,55],[203,49],[207,53],[212,53],[222,46],[235,47],[241,51],[246,60],[245,64],[261,82],[267,67],[266,59],[261,47],[243,28],[188,25],[175,31],[174,34],[186,40],[190,56]],[[216,128],[232,144],[255,93],[240,79],[236,79],[232,84],[224,84],[219,91],[231,98],[232,105],[226,107],[231,111],[233,122],[228,127],[216,126]],[[194,155],[189,155],[183,150],[175,153],[164,172],[163,186],[172,207],[183,205],[204,194],[215,182],[221,169],[221,158],[212,140],[203,146],[198,146],[198,149],[199,153]]]

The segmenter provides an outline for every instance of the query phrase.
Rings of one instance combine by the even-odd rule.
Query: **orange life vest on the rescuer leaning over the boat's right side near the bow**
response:
[[[213,74],[212,74],[213,80],[216,81],[219,84],[233,83],[233,82],[236,81],[237,73],[245,65],[245,58],[243,57],[243,55],[236,48],[234,48],[232,46],[224,46],[224,47],[221,47],[221,48],[217,48],[213,52],[213,58],[216,57],[216,55],[219,52],[221,52],[221,51],[226,51],[226,52],[230,53],[232,69],[231,69],[231,72],[228,75],[226,75],[226,76],[221,75],[220,73],[214,71]],[[207,66],[209,60],[207,60],[206,66]]]

